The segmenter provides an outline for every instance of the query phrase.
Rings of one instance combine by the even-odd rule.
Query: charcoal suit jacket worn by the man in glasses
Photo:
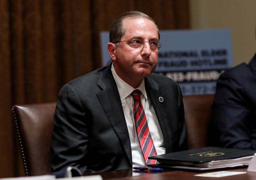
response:
[[[145,87],[163,132],[166,153],[185,150],[186,124],[179,85],[153,73],[145,78]],[[128,129],[111,65],[60,90],[51,150],[54,171],[66,166],[76,166],[84,174],[132,168]]]

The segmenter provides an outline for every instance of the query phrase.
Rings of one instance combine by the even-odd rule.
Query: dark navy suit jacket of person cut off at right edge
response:
[[[256,54],[220,75],[213,114],[213,145],[256,149]]]

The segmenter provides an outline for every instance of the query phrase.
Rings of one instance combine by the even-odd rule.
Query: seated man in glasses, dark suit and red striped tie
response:
[[[85,174],[146,166],[150,155],[187,148],[180,87],[152,73],[161,46],[155,22],[144,13],[126,12],[109,37],[113,62],[60,90],[51,141],[54,171],[76,166]],[[135,102],[141,108],[138,119]],[[141,138],[137,120],[142,119],[149,130]],[[143,138],[150,142],[148,154]]]

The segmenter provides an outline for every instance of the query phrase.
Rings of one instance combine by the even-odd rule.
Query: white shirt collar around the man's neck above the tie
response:
[[[133,90],[135,90],[132,86],[130,86],[129,84],[127,84],[126,82],[124,82],[117,74],[114,68],[114,65],[112,63],[111,65],[111,71],[114,77],[114,80],[116,82],[116,86],[119,92],[119,96],[121,101],[124,100],[127,96],[129,96]],[[145,89],[145,82],[144,79],[143,81],[140,83],[139,87],[136,88],[138,90],[141,91],[141,93],[143,94],[143,96],[148,99],[147,97],[147,93],[146,93],[146,89]]]

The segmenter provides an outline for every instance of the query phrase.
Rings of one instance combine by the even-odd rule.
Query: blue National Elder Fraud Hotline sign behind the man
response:
[[[178,82],[183,95],[214,94],[220,73],[233,67],[228,29],[161,30],[156,73]],[[101,32],[102,64],[111,62],[109,32]]]

